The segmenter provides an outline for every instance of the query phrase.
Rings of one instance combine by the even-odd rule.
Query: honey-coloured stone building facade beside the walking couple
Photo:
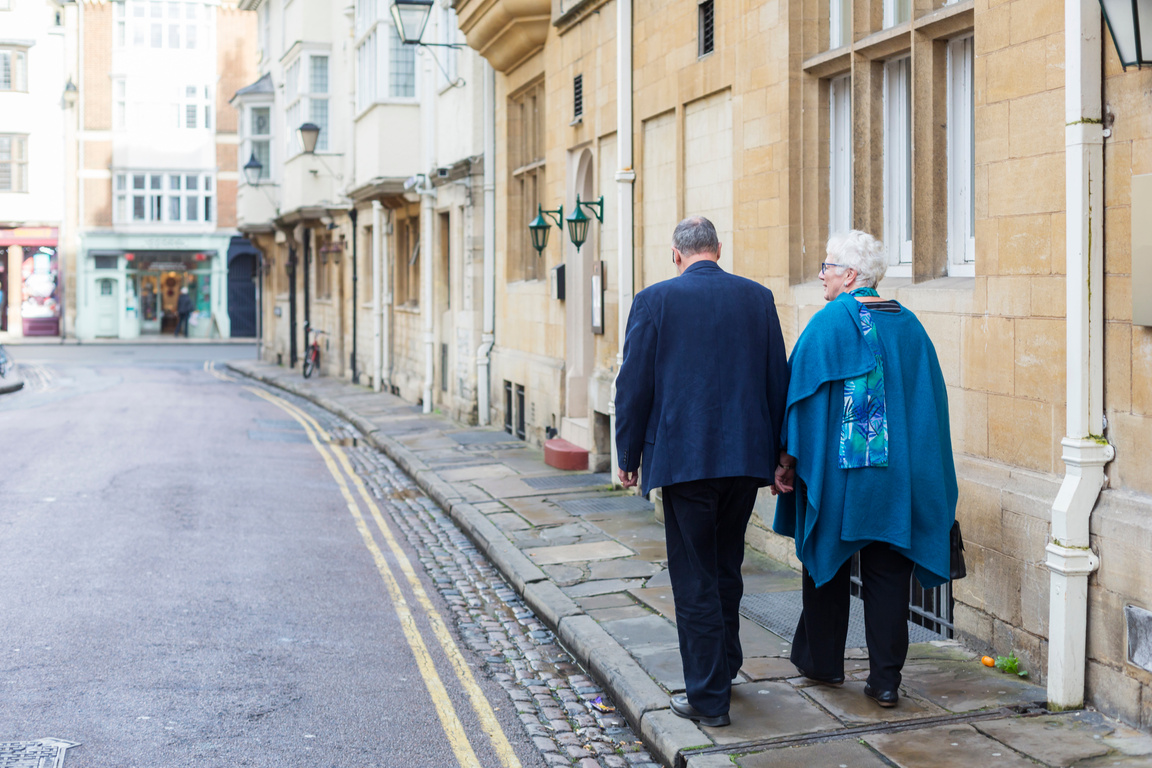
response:
[[[1152,609],[1152,330],[1131,281],[1152,73],[1121,70],[1098,7],[456,8],[498,71],[492,380],[508,396],[493,420],[535,441],[558,429],[607,464],[620,310],[673,276],[684,215],[708,215],[721,264],[774,291],[789,344],[823,305],[828,234],[870,230],[889,251],[881,292],[916,312],[948,385],[970,563],[956,633],[1020,655],[1054,706],[1077,704],[1081,675],[1089,701],[1152,724],[1127,618]],[[536,256],[537,206],[567,215],[577,193],[604,196],[602,225],[579,251],[553,231]],[[794,561],[772,508],[749,541]]]

